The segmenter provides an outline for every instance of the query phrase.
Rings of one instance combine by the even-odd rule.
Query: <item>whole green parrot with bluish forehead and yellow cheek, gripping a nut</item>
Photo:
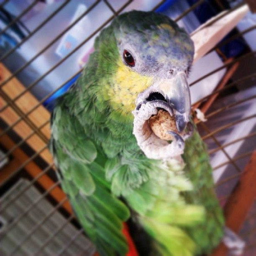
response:
[[[100,255],[125,255],[129,220],[150,255],[210,253],[224,219],[190,117],[192,40],[165,15],[131,11],[94,49],[51,115],[58,178],[85,233]],[[159,110],[174,117],[171,141],[148,125]]]

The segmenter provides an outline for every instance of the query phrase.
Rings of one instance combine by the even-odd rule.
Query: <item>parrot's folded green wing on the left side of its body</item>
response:
[[[91,139],[84,138],[82,126],[61,104],[52,114],[51,130],[51,151],[61,186],[85,232],[101,255],[124,255],[128,246],[122,222],[130,212],[110,192],[102,166],[105,156]]]

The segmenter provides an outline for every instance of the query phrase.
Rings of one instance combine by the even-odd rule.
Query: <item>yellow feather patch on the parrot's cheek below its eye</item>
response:
[[[118,70],[113,79],[113,84],[109,84],[108,96],[110,104],[115,110],[120,110],[122,114],[131,113],[136,107],[135,101],[140,92],[148,88],[153,81],[153,77],[143,76],[127,67],[120,60]]]

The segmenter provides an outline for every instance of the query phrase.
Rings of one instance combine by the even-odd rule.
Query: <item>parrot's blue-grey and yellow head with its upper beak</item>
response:
[[[109,77],[100,93],[114,110],[130,115],[151,101],[172,112],[178,131],[184,129],[191,105],[187,74],[194,45],[182,28],[165,15],[132,11],[102,31],[95,49],[101,56],[99,72]]]

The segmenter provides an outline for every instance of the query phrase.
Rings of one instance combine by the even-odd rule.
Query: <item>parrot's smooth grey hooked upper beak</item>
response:
[[[176,127],[182,132],[189,122],[191,99],[187,77],[184,73],[177,74],[173,79],[160,82],[159,91],[167,103],[173,108]]]

